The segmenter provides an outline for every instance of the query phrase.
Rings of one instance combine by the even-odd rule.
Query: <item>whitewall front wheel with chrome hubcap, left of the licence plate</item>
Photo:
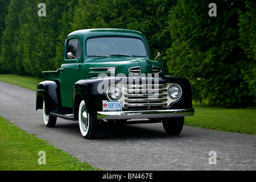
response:
[[[79,106],[79,127],[85,139],[96,138],[98,133],[98,120],[88,113],[84,100],[80,102]]]

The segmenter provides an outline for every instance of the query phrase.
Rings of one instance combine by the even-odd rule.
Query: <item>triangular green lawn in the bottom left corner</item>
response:
[[[0,138],[0,171],[99,170],[52,146],[46,140],[26,133],[1,116]],[[39,151],[44,151],[45,155]]]

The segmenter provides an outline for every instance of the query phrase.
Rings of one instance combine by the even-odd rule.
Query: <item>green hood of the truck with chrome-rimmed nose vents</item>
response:
[[[152,61],[144,58],[136,57],[93,57],[85,62],[85,72],[89,73],[89,77],[98,76],[100,73],[111,73],[118,75],[123,73],[129,74],[154,74],[164,75],[164,67],[158,61]],[[83,75],[84,72],[83,71]]]

